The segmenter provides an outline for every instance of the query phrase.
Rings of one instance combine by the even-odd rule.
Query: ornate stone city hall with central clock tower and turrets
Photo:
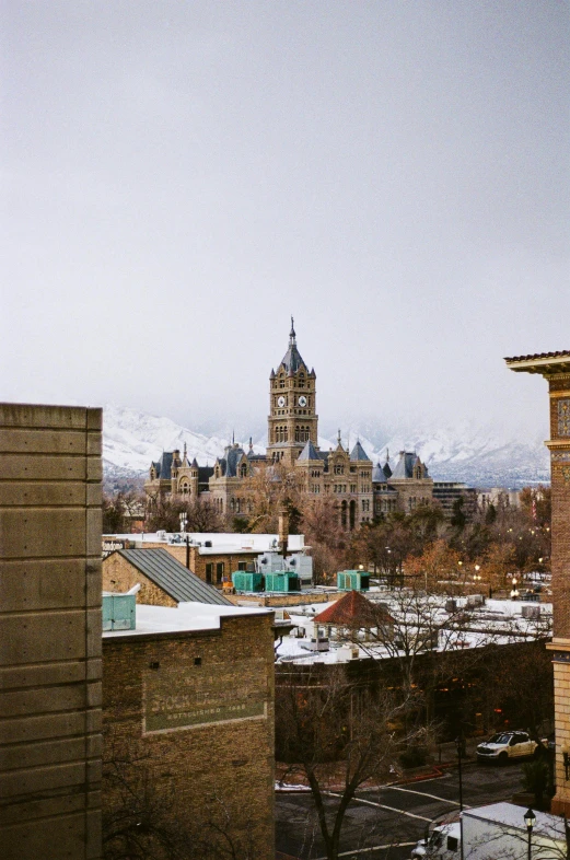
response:
[[[206,496],[220,514],[247,516],[253,509],[248,478],[278,464],[295,473],[303,493],[334,498],[345,528],[393,511],[409,513],[437,497],[433,480],[415,453],[400,452],[394,470],[387,461],[374,466],[360,442],[352,451],[342,446],[340,431],[334,450],[319,450],[316,373],[299,352],[292,319],[287,352],[269,375],[267,442],[265,455],[254,454],[251,440],[247,453],[234,442],[212,467],[199,466],[196,460],[190,463],[186,448],[182,457],[179,451],[164,452],[151,464],[144,484],[149,503],[171,496]]]

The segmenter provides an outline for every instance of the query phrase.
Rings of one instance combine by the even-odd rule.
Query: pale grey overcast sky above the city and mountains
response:
[[[566,0],[7,0],[0,398],[546,428]],[[546,432],[546,430],[545,430]]]

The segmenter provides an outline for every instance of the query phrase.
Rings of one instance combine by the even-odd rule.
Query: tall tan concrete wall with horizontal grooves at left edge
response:
[[[0,853],[101,857],[100,409],[0,404]]]

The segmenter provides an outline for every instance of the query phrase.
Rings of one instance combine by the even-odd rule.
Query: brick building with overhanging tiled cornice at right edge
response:
[[[552,812],[570,815],[570,352],[505,359],[516,372],[548,382],[552,491],[552,662],[556,722],[556,797]]]

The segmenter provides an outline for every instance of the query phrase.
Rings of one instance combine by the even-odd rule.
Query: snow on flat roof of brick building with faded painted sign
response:
[[[137,604],[137,627],[135,630],[106,630],[103,638],[121,636],[144,636],[146,634],[184,632],[187,630],[218,630],[221,618],[246,615],[268,615],[272,609],[243,606],[221,606],[207,603],[179,603],[170,606],[148,606]]]

